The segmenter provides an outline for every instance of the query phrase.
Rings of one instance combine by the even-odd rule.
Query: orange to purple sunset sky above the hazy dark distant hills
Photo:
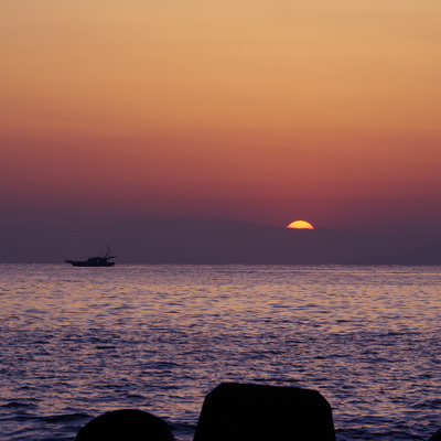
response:
[[[0,225],[439,228],[439,0],[3,0]]]

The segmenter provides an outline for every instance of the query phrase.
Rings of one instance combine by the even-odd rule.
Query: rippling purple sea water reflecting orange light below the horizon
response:
[[[0,265],[0,440],[137,408],[190,441],[223,381],[305,387],[337,441],[441,427],[441,267]]]

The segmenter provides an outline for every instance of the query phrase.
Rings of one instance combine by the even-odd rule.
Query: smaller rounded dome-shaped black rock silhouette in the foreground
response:
[[[122,409],[100,415],[77,433],[75,441],[173,441],[161,418],[142,410]]]

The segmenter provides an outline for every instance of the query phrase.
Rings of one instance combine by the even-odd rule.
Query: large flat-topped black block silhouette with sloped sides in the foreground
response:
[[[335,441],[330,404],[315,390],[224,383],[209,392],[194,441]]]

